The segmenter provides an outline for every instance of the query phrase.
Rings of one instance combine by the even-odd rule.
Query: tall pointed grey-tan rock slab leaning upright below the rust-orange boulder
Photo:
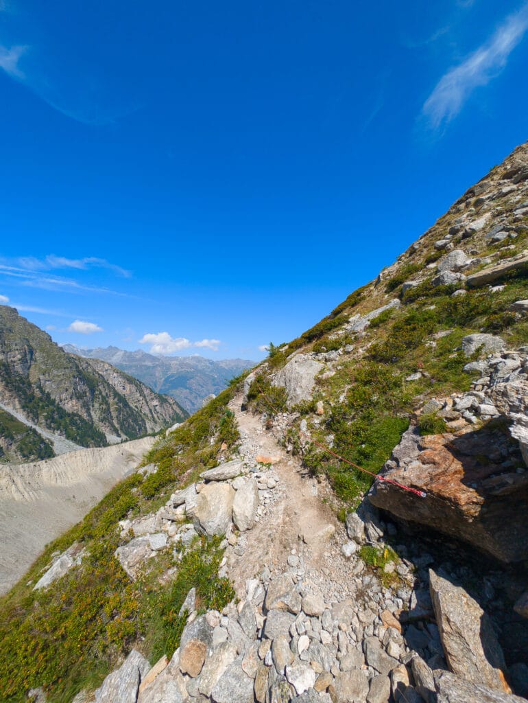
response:
[[[501,645],[487,614],[461,586],[429,569],[430,592],[449,669],[471,683],[506,690]]]

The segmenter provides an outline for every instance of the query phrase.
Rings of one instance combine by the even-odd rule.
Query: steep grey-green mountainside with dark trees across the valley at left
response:
[[[49,335],[0,306],[2,460],[105,446],[180,422],[187,413],[110,364],[66,354]],[[65,439],[67,441],[62,441]]]

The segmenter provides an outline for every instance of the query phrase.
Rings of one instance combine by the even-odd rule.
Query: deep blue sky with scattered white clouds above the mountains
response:
[[[528,2],[0,0],[0,302],[259,359],[528,138]]]

